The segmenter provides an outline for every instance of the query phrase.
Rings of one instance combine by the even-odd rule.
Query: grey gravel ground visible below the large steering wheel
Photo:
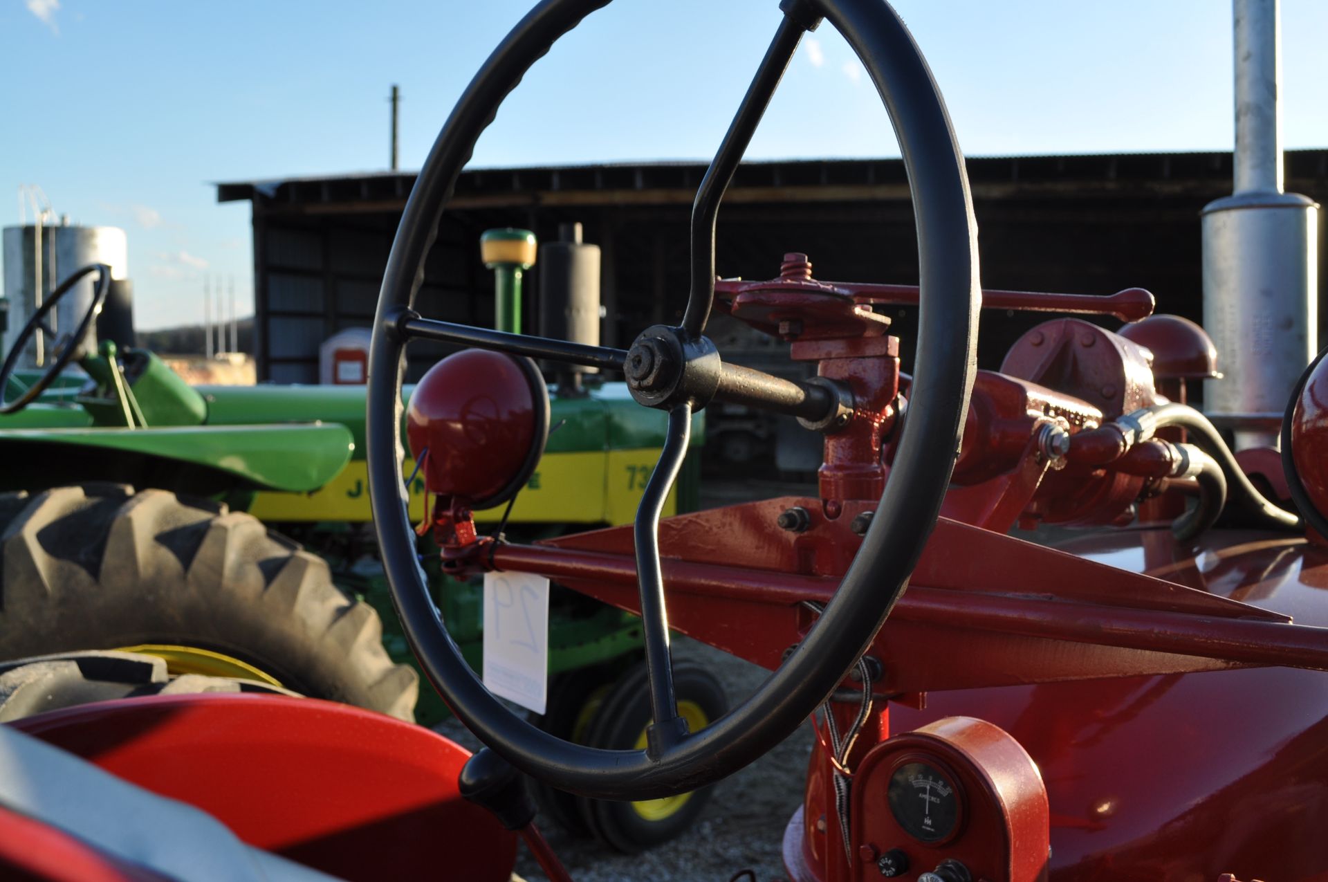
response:
[[[704,663],[724,683],[729,701],[745,699],[766,671],[741,659],[680,638],[675,655]],[[474,749],[474,737],[454,720],[440,727],[448,737]],[[782,879],[780,857],[784,828],[802,801],[802,782],[811,753],[811,728],[803,725],[780,747],[714,788],[705,813],[688,833],[644,854],[624,855],[594,839],[576,838],[552,822],[542,832],[578,882],[661,879],[676,882],[726,882],[750,869],[758,882]],[[530,851],[521,847],[517,874],[534,882],[544,879]]]

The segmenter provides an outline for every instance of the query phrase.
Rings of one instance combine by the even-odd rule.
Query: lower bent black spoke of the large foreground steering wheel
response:
[[[659,756],[687,736],[687,723],[677,715],[673,693],[673,654],[669,648],[668,608],[664,600],[664,573],[660,567],[660,514],[692,437],[692,405],[681,402],[668,412],[668,429],[659,462],[651,472],[636,509],[632,529],[636,546],[636,583],[641,599],[641,632],[645,640],[645,671],[651,687],[648,752]]]

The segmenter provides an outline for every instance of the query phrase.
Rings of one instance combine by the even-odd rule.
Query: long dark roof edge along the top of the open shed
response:
[[[1321,191],[1328,150],[1288,150],[1287,189]],[[1231,190],[1231,154],[1133,153],[1035,157],[969,157],[975,198],[1004,195],[1125,195],[1131,193]],[[467,169],[457,182],[454,209],[688,203],[705,174],[704,162]],[[266,211],[323,214],[393,211],[405,205],[414,171],[291,177],[216,185],[218,202],[252,201]],[[1317,186],[1309,186],[1315,183]],[[903,199],[902,159],[788,159],[746,162],[725,201],[855,202]]]

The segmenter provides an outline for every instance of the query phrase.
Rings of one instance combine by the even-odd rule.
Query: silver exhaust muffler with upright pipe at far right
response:
[[[1203,209],[1203,327],[1224,380],[1204,410],[1238,448],[1276,445],[1287,397],[1317,351],[1319,205],[1283,193],[1278,0],[1234,0],[1235,193]]]

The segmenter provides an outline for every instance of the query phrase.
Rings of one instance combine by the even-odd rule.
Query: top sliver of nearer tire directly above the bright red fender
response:
[[[90,701],[199,692],[295,695],[256,680],[197,673],[173,677],[166,660],[155,655],[65,652],[0,663],[0,723]]]

